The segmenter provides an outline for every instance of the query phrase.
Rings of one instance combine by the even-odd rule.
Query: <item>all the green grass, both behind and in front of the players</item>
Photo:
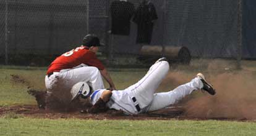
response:
[[[244,62],[244,68],[253,71],[256,75],[255,64],[255,62]],[[214,68],[211,67],[212,72],[223,73],[220,67],[215,71]],[[192,69],[177,66],[173,71],[186,73],[190,78],[198,70],[209,73],[209,66],[203,68],[192,65]],[[45,89],[45,72],[45,67],[0,66],[0,106],[36,104],[34,98],[27,94],[27,87]],[[124,89],[137,82],[146,72],[146,69],[110,69],[118,89]],[[25,80],[14,82],[11,75],[19,75]],[[0,117],[0,135],[256,135],[256,123],[176,119],[164,121],[41,119],[8,113]]]

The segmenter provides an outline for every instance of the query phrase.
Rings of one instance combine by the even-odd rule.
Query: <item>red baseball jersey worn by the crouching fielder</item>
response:
[[[99,70],[105,69],[105,66],[96,57],[95,52],[90,51],[88,47],[80,46],[57,57],[51,63],[51,65],[49,65],[46,74],[52,72],[59,72],[64,69],[74,68],[81,63],[84,63],[88,66],[95,66]]]

